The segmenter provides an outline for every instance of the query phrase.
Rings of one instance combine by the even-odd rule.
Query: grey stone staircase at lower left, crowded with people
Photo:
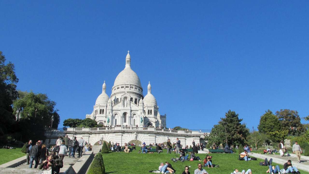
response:
[[[68,156],[65,156],[63,159],[63,168],[61,168],[60,173],[63,169],[73,166],[78,161],[78,159],[79,158],[76,158],[76,157],[69,158]],[[32,168],[29,168],[29,164],[23,163],[17,167],[0,168],[0,174],[38,174],[40,171],[39,166],[38,168],[33,168],[33,167],[34,167],[34,164],[32,165]]]

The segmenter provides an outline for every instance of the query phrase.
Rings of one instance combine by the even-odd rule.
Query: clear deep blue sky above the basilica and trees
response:
[[[309,115],[308,5],[0,1],[0,50],[18,89],[57,102],[59,127],[91,114],[104,80],[111,94],[130,50],[167,127],[211,129],[231,109],[251,129],[268,109]]]

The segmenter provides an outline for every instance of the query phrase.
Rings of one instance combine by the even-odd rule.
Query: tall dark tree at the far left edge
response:
[[[14,64],[5,64],[6,58],[0,51],[0,137],[8,133],[14,133],[11,129],[15,123],[12,104],[18,97],[16,84],[18,78],[15,75]]]

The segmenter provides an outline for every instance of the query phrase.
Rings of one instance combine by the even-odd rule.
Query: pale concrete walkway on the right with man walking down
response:
[[[274,163],[278,163],[278,164],[284,164],[286,163],[288,160],[292,161],[292,165],[297,167],[297,169],[301,169],[304,171],[309,172],[309,157],[306,156],[302,156],[301,157],[301,163],[298,163],[298,159],[296,158],[295,154],[290,154],[290,156],[284,156],[281,157],[280,155],[265,155],[265,154],[257,154],[257,153],[249,153],[250,156],[254,156],[256,158],[260,158],[260,159],[265,159],[267,158],[269,159],[273,159]]]

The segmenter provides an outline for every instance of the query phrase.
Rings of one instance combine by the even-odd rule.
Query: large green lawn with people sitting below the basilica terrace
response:
[[[137,148],[138,149],[138,148]],[[219,167],[208,168],[205,170],[210,173],[228,174],[234,171],[235,168],[241,170],[251,169],[253,174],[265,174],[268,167],[260,166],[260,161],[264,159],[258,159],[256,161],[239,161],[238,154],[211,154],[213,156],[213,164],[218,164]],[[178,155],[179,156],[179,155]],[[197,154],[203,161],[206,154]],[[149,173],[149,170],[158,170],[161,162],[168,161],[172,164],[172,167],[176,170],[176,173],[181,174],[184,171],[184,166],[191,166],[189,172],[194,173],[197,169],[198,161],[185,161],[174,163],[171,158],[176,157],[176,154],[166,154],[166,150],[163,153],[154,154],[139,154],[138,150],[134,150],[130,153],[125,152],[111,152],[109,154],[103,154],[105,170],[107,173],[113,174],[145,174]],[[274,161],[275,162],[275,161]],[[203,164],[203,162],[201,162]],[[273,165],[278,165],[273,163]],[[280,169],[283,165],[279,165]],[[302,174],[309,174],[309,172],[300,171]]]

